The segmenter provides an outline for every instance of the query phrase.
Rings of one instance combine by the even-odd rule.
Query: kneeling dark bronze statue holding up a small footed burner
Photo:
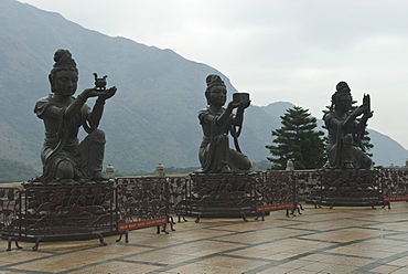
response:
[[[43,173],[34,181],[43,185],[101,181],[105,179],[101,173],[105,133],[98,125],[105,101],[114,96],[117,88],[106,89],[99,85],[86,88],[75,98],[78,70],[69,51],[57,50],[54,61],[49,75],[52,94],[40,98],[34,108],[45,127],[41,151]],[[97,97],[93,108],[86,105],[90,97]],[[77,138],[80,126],[88,134],[82,143]]]

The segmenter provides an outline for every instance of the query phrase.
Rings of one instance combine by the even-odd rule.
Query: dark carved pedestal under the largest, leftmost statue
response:
[[[114,180],[73,185],[23,182],[24,203],[19,223],[23,228],[18,239],[65,241],[99,239],[117,234],[112,229]],[[15,232],[13,232],[15,236]],[[11,233],[10,233],[11,235]]]

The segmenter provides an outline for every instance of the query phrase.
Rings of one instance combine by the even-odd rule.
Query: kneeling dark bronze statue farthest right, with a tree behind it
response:
[[[332,95],[331,109],[323,116],[329,130],[329,159],[324,168],[369,169],[372,166],[372,160],[362,145],[367,120],[373,117],[369,95],[364,95],[363,104],[354,110],[351,110],[352,102],[347,83],[340,82]],[[358,116],[362,116],[359,120]]]

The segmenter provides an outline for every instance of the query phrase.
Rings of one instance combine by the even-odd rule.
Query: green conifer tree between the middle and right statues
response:
[[[315,130],[316,118],[311,117],[309,109],[299,106],[287,109],[280,118],[282,127],[272,130],[273,144],[266,146],[272,155],[267,157],[272,164],[271,169],[284,169],[289,159],[294,169],[321,168],[325,162],[324,133]]]

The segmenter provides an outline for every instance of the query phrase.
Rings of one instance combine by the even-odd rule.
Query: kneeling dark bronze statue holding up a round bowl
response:
[[[200,146],[198,158],[202,169],[197,172],[226,173],[247,172],[251,170],[248,157],[241,154],[238,137],[244,120],[244,109],[249,107],[249,94],[236,93],[234,101],[224,108],[227,89],[218,75],[206,77],[207,88],[205,97],[208,107],[198,113],[203,129],[203,140]],[[236,114],[233,114],[234,109]],[[238,129],[237,129],[238,128]],[[235,149],[229,148],[228,134],[232,134]]]

